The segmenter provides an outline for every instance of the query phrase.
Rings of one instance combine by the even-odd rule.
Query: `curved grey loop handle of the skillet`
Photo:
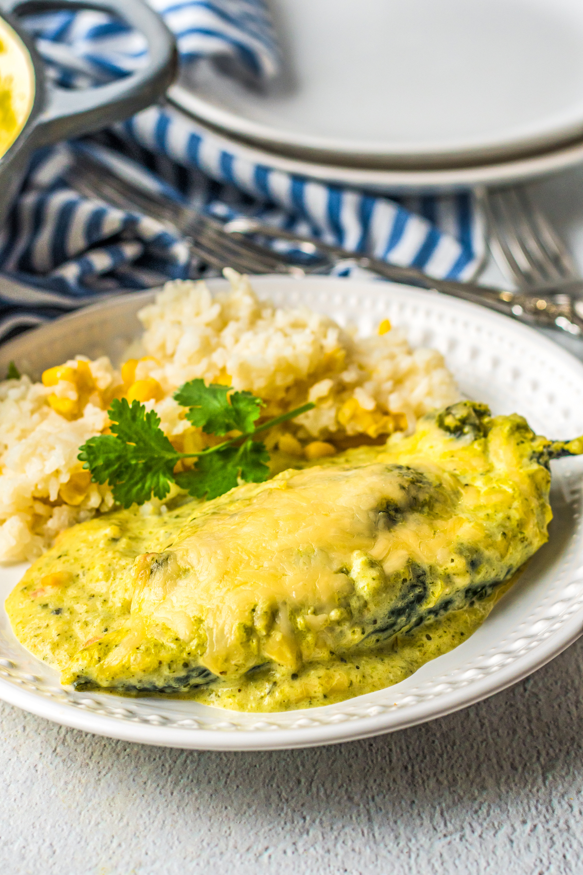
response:
[[[45,109],[36,119],[37,146],[82,137],[133,116],[163,95],[176,75],[174,37],[162,18],[142,0],[0,0],[0,8],[16,17],[59,10],[109,12],[141,31],[148,40],[149,63],[142,70],[96,88],[47,88]]]

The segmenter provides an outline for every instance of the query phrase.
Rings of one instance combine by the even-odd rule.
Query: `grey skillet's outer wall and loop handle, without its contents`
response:
[[[79,91],[46,81],[45,66],[18,16],[44,11],[93,9],[110,12],[142,31],[148,40],[149,64],[124,79]],[[174,37],[162,18],[142,0],[0,0],[0,17],[17,32],[34,71],[31,113],[10,149],[0,158],[0,226],[22,184],[31,153],[38,146],[81,137],[121,122],[163,94],[177,71]]]

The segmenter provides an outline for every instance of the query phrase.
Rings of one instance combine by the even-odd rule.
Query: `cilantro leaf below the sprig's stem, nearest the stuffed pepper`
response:
[[[267,480],[269,468],[264,463],[268,461],[265,444],[248,439],[241,446],[226,446],[199,456],[192,471],[177,474],[175,479],[191,495],[212,499],[237,486],[239,476],[253,483]]]

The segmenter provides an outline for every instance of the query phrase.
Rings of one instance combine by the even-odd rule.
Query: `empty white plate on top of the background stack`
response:
[[[271,0],[280,75],[188,66],[190,109],[288,155],[475,165],[583,134],[580,0]],[[175,92],[176,95],[176,92]]]

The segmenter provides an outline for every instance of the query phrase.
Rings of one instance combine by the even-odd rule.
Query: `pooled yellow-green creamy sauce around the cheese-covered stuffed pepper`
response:
[[[34,655],[63,671],[80,645],[123,628],[133,596],[125,572],[144,549],[156,549],[188,520],[198,503],[189,501],[159,516],[143,516],[133,507],[83,523],[82,531],[67,530],[58,547],[35,563],[33,580],[23,581],[24,586],[15,590],[21,595],[18,605],[14,594],[7,603],[17,638]],[[50,585],[45,578],[54,573],[55,566],[59,573],[69,572],[73,582]],[[396,635],[372,653],[329,654],[325,662],[297,672],[270,664],[235,682],[220,681],[174,696],[237,711],[285,711],[380,690],[462,644],[482,625],[506,589],[501,586],[489,597],[411,634]]]

